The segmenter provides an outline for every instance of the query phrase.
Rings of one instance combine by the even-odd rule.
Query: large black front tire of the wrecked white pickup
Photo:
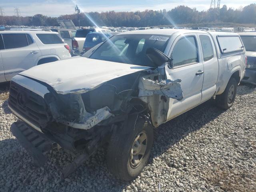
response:
[[[146,150],[140,158],[140,164],[133,167],[132,160],[130,162],[131,150],[135,145],[134,140],[140,133],[146,134]],[[107,152],[107,164],[110,172],[121,180],[130,181],[136,178],[148,161],[154,140],[153,135],[153,127],[146,118],[128,118],[125,125],[118,128],[110,139]]]

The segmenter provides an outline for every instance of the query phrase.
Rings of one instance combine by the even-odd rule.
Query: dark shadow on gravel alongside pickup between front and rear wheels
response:
[[[225,111],[215,106],[215,100],[211,99],[156,128],[149,162],[152,162],[153,157],[166,152],[190,132],[200,130],[223,112]]]

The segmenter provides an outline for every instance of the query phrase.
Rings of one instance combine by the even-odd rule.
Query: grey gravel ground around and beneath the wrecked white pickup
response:
[[[6,88],[7,87],[7,88]],[[242,85],[227,111],[210,100],[155,130],[152,155],[131,182],[106,168],[104,149],[64,182],[59,172],[72,156],[48,154],[43,168],[10,132],[16,117],[7,106],[8,84],[0,84],[0,192],[6,191],[256,191],[256,87]]]

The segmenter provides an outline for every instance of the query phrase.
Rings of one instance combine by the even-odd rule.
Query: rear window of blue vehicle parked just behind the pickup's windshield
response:
[[[108,33],[89,33],[86,36],[84,47],[94,47],[97,44],[104,42],[106,39],[110,38],[112,35]]]

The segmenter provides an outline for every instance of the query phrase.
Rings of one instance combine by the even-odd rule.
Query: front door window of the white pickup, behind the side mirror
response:
[[[198,48],[196,38],[187,36],[178,40],[172,50],[174,66],[198,62]]]

